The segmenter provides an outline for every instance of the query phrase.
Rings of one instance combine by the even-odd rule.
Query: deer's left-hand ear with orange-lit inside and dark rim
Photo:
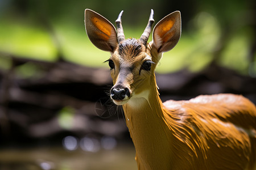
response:
[[[99,49],[114,52],[117,46],[117,32],[112,23],[96,12],[85,10],[85,29],[92,43]]]

